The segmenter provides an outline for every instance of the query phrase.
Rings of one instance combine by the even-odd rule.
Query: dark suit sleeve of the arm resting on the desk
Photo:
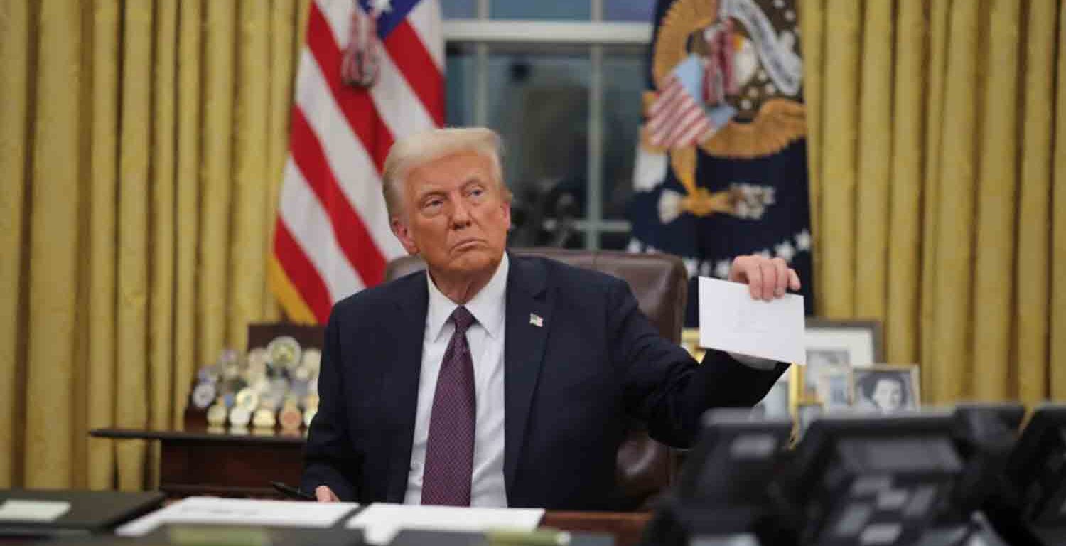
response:
[[[336,309],[326,326],[319,372],[319,411],[311,421],[304,449],[301,487],[313,492],[319,485],[333,489],[341,500],[358,498],[361,461],[348,436],[344,411],[343,370]]]

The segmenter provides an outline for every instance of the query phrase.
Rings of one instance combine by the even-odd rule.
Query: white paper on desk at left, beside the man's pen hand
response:
[[[142,536],[164,524],[265,525],[272,527],[334,526],[354,510],[354,502],[220,499],[189,497],[139,517],[117,529],[119,536]]]

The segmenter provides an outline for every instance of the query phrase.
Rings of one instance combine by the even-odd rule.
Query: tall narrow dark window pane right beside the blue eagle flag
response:
[[[603,54],[603,218],[624,220],[633,193],[646,58],[640,48]]]

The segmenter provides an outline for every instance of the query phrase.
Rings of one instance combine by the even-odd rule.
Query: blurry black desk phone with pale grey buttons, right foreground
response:
[[[900,546],[950,499],[962,462],[947,413],[830,415],[814,421],[775,480],[801,546]]]

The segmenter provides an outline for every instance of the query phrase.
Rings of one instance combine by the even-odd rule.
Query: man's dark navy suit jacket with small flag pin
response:
[[[697,365],[659,335],[624,280],[546,258],[510,260],[502,410],[512,507],[609,510],[630,417],[651,437],[688,447],[707,408],[755,404],[785,370],[755,370],[716,351]],[[427,308],[424,271],[334,306],[304,491],[328,485],[342,500],[403,502]]]

